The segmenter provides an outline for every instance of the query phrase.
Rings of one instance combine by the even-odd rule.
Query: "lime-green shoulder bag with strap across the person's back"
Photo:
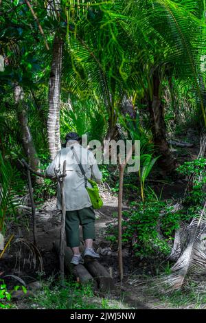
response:
[[[71,150],[73,151],[73,155],[76,158],[76,161],[78,161],[78,166],[80,167],[80,170],[82,172],[82,175],[84,176],[84,180],[85,180],[85,188],[87,189],[87,192],[89,194],[89,197],[91,199],[91,203],[93,205],[94,209],[100,209],[102,208],[103,205],[103,201],[100,197],[100,192],[99,192],[99,188],[98,188],[98,184],[93,181],[92,179],[87,178],[87,176],[85,175],[85,171],[84,168],[82,167],[82,164],[80,162],[80,160],[78,159],[78,156],[76,155],[76,151],[73,148],[73,146],[71,146]],[[89,188],[87,186],[87,181],[89,181],[89,183],[91,184],[91,188]]]

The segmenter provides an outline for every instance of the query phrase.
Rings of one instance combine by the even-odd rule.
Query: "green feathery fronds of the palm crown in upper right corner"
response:
[[[199,84],[201,57],[205,55],[205,22],[196,17],[203,15],[203,5],[197,1],[128,1],[126,12],[132,12],[130,36],[134,45],[146,49],[139,57],[141,68],[152,72],[167,66],[181,80],[192,84],[201,103],[203,118],[206,113]],[[133,9],[133,10],[131,10]],[[143,41],[139,41],[139,39]],[[137,48],[138,48],[137,47]],[[148,69],[149,67],[149,69]]]

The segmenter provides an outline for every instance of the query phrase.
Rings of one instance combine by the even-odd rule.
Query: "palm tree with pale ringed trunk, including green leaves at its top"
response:
[[[101,1],[104,3],[104,1]],[[107,1],[105,1],[106,3]],[[98,5],[98,1],[92,1],[92,5]],[[49,78],[49,113],[47,119],[47,136],[49,143],[49,152],[51,158],[54,159],[56,153],[60,149],[60,83],[62,78],[62,55],[65,60],[67,56],[63,51],[63,41],[67,45],[70,42],[72,32],[72,26],[76,25],[80,19],[87,18],[87,12],[91,5],[91,1],[80,0],[78,3],[74,3],[73,0],[67,1],[67,3],[61,3],[60,1],[49,1],[47,4],[48,15],[58,21],[58,24],[63,24],[65,28],[60,29],[60,32],[54,37],[53,44],[53,57],[52,67]],[[65,16],[66,13],[66,16]],[[66,20],[65,20],[66,19]],[[66,46],[65,46],[66,47]],[[70,48],[71,49],[71,48]],[[70,50],[69,49],[69,50]],[[66,71],[67,73],[67,71]]]

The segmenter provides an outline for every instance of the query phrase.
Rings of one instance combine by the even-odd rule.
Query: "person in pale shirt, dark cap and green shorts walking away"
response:
[[[85,175],[88,179],[93,179],[96,183],[101,183],[102,172],[98,168],[97,161],[89,149],[81,146],[81,138],[77,133],[67,133],[65,148],[62,148],[56,155],[54,161],[46,169],[49,177],[54,177],[54,168],[62,173],[63,163],[66,160],[65,177],[65,203],[66,203],[66,221],[65,231],[67,246],[73,251],[71,263],[78,265],[84,263],[80,254],[80,232],[79,226],[82,225],[82,234],[85,243],[84,257],[100,258],[93,249],[95,240],[95,212],[91,199],[85,187],[85,179],[82,175],[78,161],[74,155],[75,150],[78,160],[84,168]],[[91,184],[87,182],[87,186]],[[57,191],[57,208],[62,209],[60,197],[60,185]]]

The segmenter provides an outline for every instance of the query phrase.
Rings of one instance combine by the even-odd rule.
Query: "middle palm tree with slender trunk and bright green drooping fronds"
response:
[[[78,98],[100,102],[106,110],[106,140],[118,135],[119,111],[123,105],[128,107],[125,101],[135,55],[121,26],[124,16],[112,10],[111,4],[108,8],[104,5],[104,10],[101,5],[90,8],[86,19],[82,16],[71,26],[67,47],[71,63],[64,67],[67,70],[65,87]]]

